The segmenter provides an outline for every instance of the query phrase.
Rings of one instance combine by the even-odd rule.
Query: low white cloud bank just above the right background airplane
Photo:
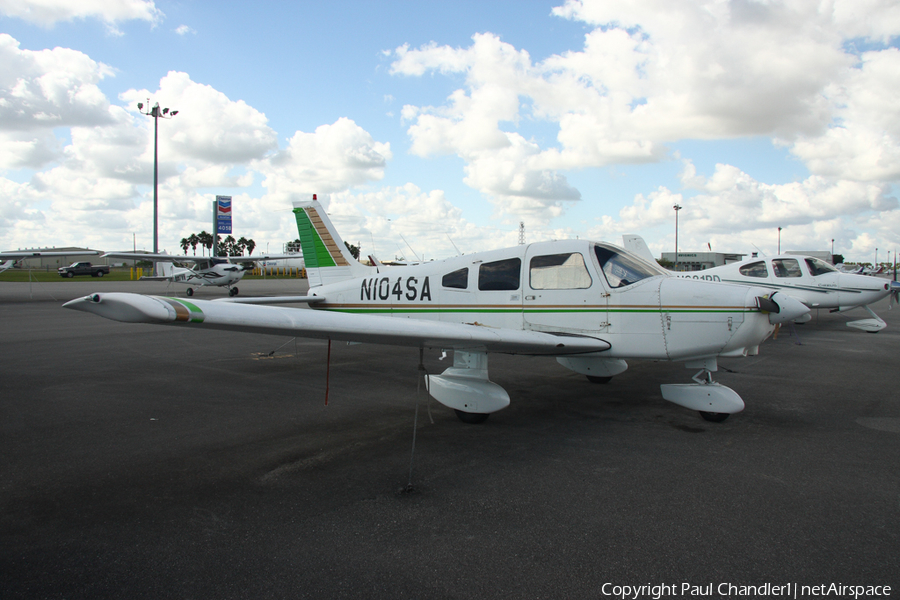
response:
[[[753,247],[774,252],[778,228],[782,248],[823,250],[837,238],[843,247],[866,247],[873,230],[890,233],[885,217],[896,222],[900,203],[887,184],[830,181],[817,175],[803,181],[767,184],[732,165],[716,165],[715,172],[698,175],[689,162],[682,173],[684,192],[660,187],[638,194],[618,218],[607,218],[589,235],[615,239],[621,233],[664,229],[651,248],[657,253],[674,247],[674,205],[679,212],[679,245],[735,251]],[[868,230],[868,231],[866,231]],[[884,239],[884,238],[882,238]]]

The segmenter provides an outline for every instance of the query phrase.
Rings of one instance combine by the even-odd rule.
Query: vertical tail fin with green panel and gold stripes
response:
[[[294,215],[310,288],[375,271],[353,258],[315,194],[311,201],[294,202]]]

